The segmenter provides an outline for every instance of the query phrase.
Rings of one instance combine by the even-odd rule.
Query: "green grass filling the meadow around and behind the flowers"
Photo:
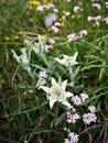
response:
[[[60,10],[60,22],[64,11],[71,12],[71,15],[62,21],[64,25],[60,28],[58,33],[48,32],[43,24],[44,15],[52,12],[52,9],[37,12],[36,6],[29,6],[29,0],[0,2],[0,142],[63,143],[64,138],[67,138],[64,128],[69,127],[72,131],[80,134],[79,143],[107,143],[108,24],[100,21],[100,25],[97,26],[87,21],[88,15],[106,18],[105,3],[98,2],[102,7],[102,10],[98,11],[91,8],[91,2],[83,0],[80,7],[84,10],[79,18],[73,12],[77,1],[72,1],[72,4],[65,0],[53,3]],[[78,34],[82,30],[87,30],[88,34],[82,40],[67,42],[68,34]],[[54,50],[44,54],[44,58],[32,53],[31,63],[36,65],[35,77],[32,79],[17,64],[11,48],[20,55],[20,50],[26,46],[24,41],[37,42],[37,34],[46,35],[47,41],[55,40],[55,44]],[[54,57],[61,57],[63,54],[71,56],[75,52],[78,52],[79,69],[75,77],[75,87],[68,86],[67,89],[78,95],[85,90],[89,95],[88,103],[97,107],[98,120],[88,127],[82,121],[75,127],[68,125],[67,110],[58,102],[51,110],[45,92],[35,88],[37,74],[42,68],[48,74],[46,79],[48,87],[52,76],[69,81],[68,69],[56,63]],[[30,92],[30,89],[33,92]],[[87,105],[79,108],[80,113],[86,112],[85,107],[87,108]]]

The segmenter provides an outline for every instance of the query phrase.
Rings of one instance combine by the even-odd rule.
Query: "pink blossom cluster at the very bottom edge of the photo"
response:
[[[74,132],[69,132],[68,134],[68,139],[65,139],[64,143],[77,143],[78,142],[78,134],[74,133]]]

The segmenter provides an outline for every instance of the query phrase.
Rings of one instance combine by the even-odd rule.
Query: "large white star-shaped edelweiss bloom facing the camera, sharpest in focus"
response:
[[[71,108],[71,103],[66,100],[67,97],[72,97],[73,94],[65,91],[66,89],[67,80],[63,81],[62,84],[56,82],[54,78],[52,78],[52,87],[48,88],[46,86],[41,86],[46,94],[47,99],[50,100],[50,108],[53,107],[53,105],[58,101],[62,105]]]

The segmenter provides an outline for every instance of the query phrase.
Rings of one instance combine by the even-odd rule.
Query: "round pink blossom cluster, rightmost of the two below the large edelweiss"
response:
[[[85,124],[90,124],[90,122],[96,122],[97,117],[95,113],[89,112],[83,116],[83,120]]]

